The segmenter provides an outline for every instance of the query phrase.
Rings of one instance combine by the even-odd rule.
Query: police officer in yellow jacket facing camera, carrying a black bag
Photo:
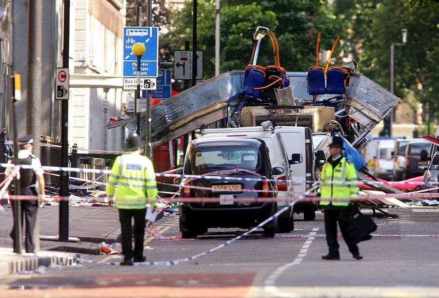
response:
[[[347,223],[340,220],[340,215],[350,212],[350,200],[339,200],[339,198],[358,198],[359,186],[357,173],[354,164],[343,157],[343,139],[340,136],[333,136],[329,145],[331,156],[324,164],[321,171],[320,206],[324,208],[326,242],[329,246],[329,253],[321,258],[323,260],[339,260],[339,243],[337,242],[337,222],[339,222],[343,239],[349,247],[354,259],[360,260],[363,257],[359,254],[357,244],[351,242],[346,232]],[[337,198],[337,200],[324,200]]]

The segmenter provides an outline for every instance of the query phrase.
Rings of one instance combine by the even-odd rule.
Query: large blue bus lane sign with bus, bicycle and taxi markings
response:
[[[140,60],[140,75],[157,77],[159,70],[158,27],[123,27],[123,76],[136,76],[137,57],[132,52],[136,42],[142,42],[146,47],[146,52]]]

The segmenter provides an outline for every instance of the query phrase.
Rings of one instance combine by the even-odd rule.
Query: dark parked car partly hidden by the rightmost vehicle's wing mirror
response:
[[[421,139],[408,142],[404,154],[405,163],[402,165],[403,180],[424,174],[425,170],[419,166],[427,166],[428,161],[421,160],[420,155],[422,150],[430,150],[430,147],[430,143]]]

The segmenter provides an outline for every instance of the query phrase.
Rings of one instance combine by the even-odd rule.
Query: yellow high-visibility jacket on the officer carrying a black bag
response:
[[[321,170],[320,205],[348,206],[349,200],[324,200],[330,198],[358,198],[359,186],[354,164],[341,157],[333,168],[326,162]]]

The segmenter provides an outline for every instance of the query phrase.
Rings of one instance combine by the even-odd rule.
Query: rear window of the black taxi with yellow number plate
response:
[[[193,147],[189,158],[193,175],[236,168],[259,172],[261,168],[259,150],[244,146]]]

